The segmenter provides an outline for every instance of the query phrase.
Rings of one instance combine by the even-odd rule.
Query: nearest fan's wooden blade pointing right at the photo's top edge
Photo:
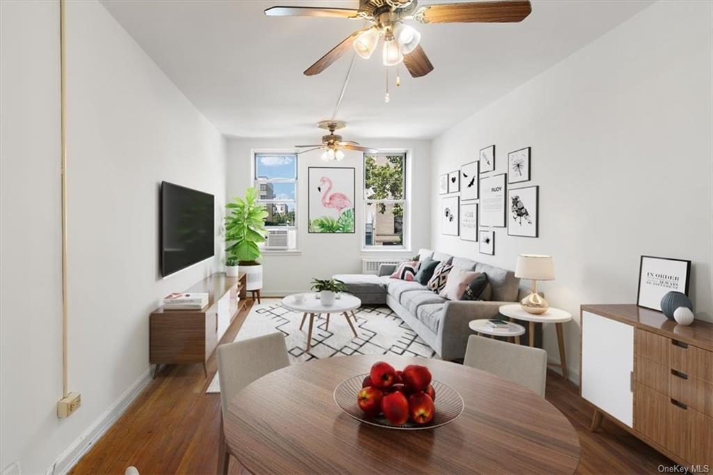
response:
[[[473,1],[422,6],[414,19],[421,23],[509,23],[523,21],[531,11],[529,0]]]

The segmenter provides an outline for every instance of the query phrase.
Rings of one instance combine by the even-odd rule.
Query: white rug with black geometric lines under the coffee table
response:
[[[356,333],[354,337],[344,316],[332,315],[327,330],[327,320],[314,321],[312,348],[307,352],[307,327],[299,330],[302,314],[282,307],[282,299],[262,299],[261,305],[253,305],[237,332],[235,341],[259,337],[263,334],[282,332],[287,343],[289,362],[305,362],[310,359],[329,358],[351,354],[399,354],[425,358],[438,358],[419,335],[406,325],[386,305],[369,305],[356,310]],[[220,392],[217,374],[206,392]]]

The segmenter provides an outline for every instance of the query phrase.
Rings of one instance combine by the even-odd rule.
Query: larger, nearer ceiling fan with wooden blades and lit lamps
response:
[[[471,1],[458,4],[419,6],[418,0],[359,0],[359,9],[322,8],[312,6],[273,6],[267,16],[320,16],[364,19],[371,22],[366,29],[354,31],[342,43],[304,71],[306,76],[319,74],[351,46],[361,58],[374,53],[379,39],[384,38],[384,66],[404,62],[414,78],[434,70],[424,49],[419,46],[421,34],[404,20],[429,23],[506,23],[523,21],[532,11],[529,0]]]

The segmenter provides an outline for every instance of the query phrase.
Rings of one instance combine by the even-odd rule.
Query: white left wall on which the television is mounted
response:
[[[216,257],[161,279],[158,187],[198,188],[222,208],[226,143],[101,4],[67,2],[69,389],[82,407],[57,419],[58,2],[0,4],[0,468],[19,460],[37,474],[145,380],[148,314],[160,297],[221,266],[217,241]]]

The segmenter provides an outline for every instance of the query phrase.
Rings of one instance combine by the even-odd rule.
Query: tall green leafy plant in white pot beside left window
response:
[[[230,214],[225,217],[226,264],[231,259],[237,261],[245,272],[245,290],[262,289],[262,264],[260,264],[261,242],[265,242],[265,205],[257,203],[257,190],[247,188],[245,198],[236,197],[225,205]],[[259,294],[258,294],[259,295]]]

